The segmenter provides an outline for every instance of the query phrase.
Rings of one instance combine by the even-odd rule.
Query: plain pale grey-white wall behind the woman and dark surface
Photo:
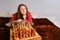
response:
[[[60,0],[0,0],[0,16],[11,17],[22,3],[33,18],[48,18],[60,28]]]

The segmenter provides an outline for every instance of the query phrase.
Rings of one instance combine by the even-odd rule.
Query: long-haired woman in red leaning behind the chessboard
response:
[[[20,4],[18,6],[17,12],[13,14],[13,17],[9,22],[13,22],[14,20],[17,20],[18,22],[25,20],[32,23],[32,15],[25,4]]]

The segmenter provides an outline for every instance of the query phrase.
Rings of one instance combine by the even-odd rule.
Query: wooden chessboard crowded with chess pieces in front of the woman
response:
[[[10,29],[10,40],[42,40],[29,22],[14,22]]]

